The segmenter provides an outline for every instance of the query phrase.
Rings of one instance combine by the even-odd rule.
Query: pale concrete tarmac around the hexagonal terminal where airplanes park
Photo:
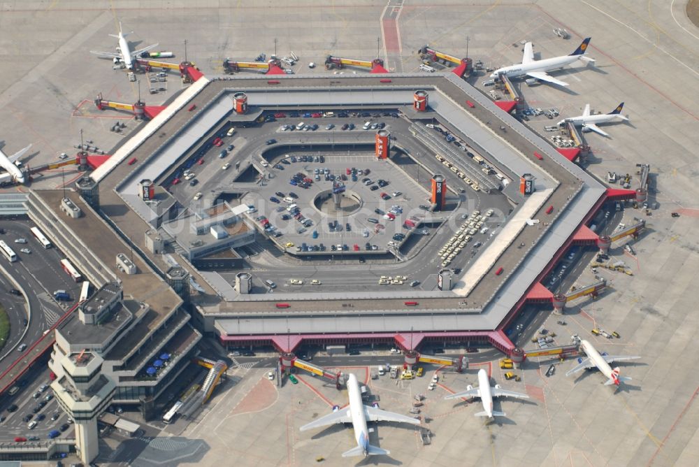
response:
[[[526,364],[522,381],[503,382],[495,370],[495,382],[506,389],[525,390],[528,402],[497,401],[507,417],[483,424],[473,412],[479,410],[456,401],[442,401],[446,389],[428,396],[427,426],[433,442],[421,446],[411,427],[379,424],[376,436],[391,458],[370,458],[360,464],[404,464],[413,466],[693,466],[699,464],[699,373],[678,361],[694,349],[699,322],[693,292],[699,273],[698,247],[691,229],[699,217],[696,189],[696,129],[699,99],[696,54],[698,31],[684,14],[684,3],[654,0],[643,6],[625,3],[569,3],[541,1],[535,5],[488,3],[462,6],[459,2],[390,6],[380,2],[346,2],[269,8],[266,3],[231,7],[175,2],[164,13],[148,2],[113,2],[124,29],[136,31],[131,41],[142,46],[159,42],[159,50],[173,50],[182,57],[182,39],[187,55],[210,75],[221,69],[225,57],[252,60],[259,52],[273,53],[274,39],[280,55],[293,50],[303,59],[294,69],[303,73],[327,73],[324,56],[371,59],[376,55],[375,38],[382,38],[380,55],[389,57],[389,71],[415,71],[415,50],[433,48],[468,55],[495,66],[521,59],[521,40],[532,40],[541,57],[568,54],[582,38],[591,36],[589,55],[596,66],[571,67],[552,73],[570,83],[559,89],[548,85],[527,87],[518,83],[532,107],[556,107],[559,118],[579,115],[586,103],[608,111],[626,101],[628,124],[603,127],[610,138],[585,134],[593,153],[588,170],[603,178],[607,171],[635,174],[635,164],[651,164],[651,194],[659,208],[645,217],[640,210],[627,209],[624,222],[644,217],[647,231],[633,242],[636,257],[624,257],[633,277],[604,272],[610,291],[597,301],[582,301],[569,307],[566,326],[549,317],[545,326],[555,329],[561,340],[570,334],[591,338],[600,351],[610,354],[642,355],[639,363],[622,365],[622,374],[633,380],[614,391],[601,383],[596,373],[565,378],[575,362],[558,364],[547,378],[549,364]],[[122,136],[108,131],[116,120],[136,125],[113,110],[92,106],[98,92],[105,98],[136,101],[138,87],[122,71],[113,71],[108,60],[89,50],[113,50],[107,34],[116,31],[109,4],[89,1],[69,3],[22,3],[4,8],[3,31],[14,48],[6,48],[0,71],[0,138],[3,152],[12,153],[33,143],[29,164],[54,161],[60,152],[70,152],[80,140],[94,140],[101,149],[117,145]],[[377,21],[384,18],[382,22]],[[312,27],[309,25],[312,24]],[[382,29],[382,25],[384,28]],[[564,27],[568,41],[552,34]],[[397,33],[397,34],[396,34]],[[516,44],[516,46],[512,46]],[[308,69],[308,62],[321,64]],[[345,71],[345,73],[352,73]],[[357,71],[356,73],[363,73]],[[482,82],[482,76],[476,82]],[[143,86],[142,86],[143,87]],[[165,94],[146,95],[148,105],[157,105],[172,95],[178,78],[168,78]],[[145,94],[146,88],[141,92]],[[529,122],[541,129],[551,121],[538,117]],[[78,173],[54,171],[34,182],[34,188],[59,188]],[[635,180],[633,180],[635,182]],[[670,217],[680,213],[679,218]],[[628,224],[628,222],[626,222]],[[590,273],[584,273],[590,274]],[[586,277],[581,283],[586,283]],[[591,279],[591,277],[590,277]],[[593,326],[616,330],[620,339],[593,337]],[[533,330],[535,331],[535,330]],[[529,336],[526,336],[527,338]],[[532,344],[529,344],[532,345]],[[525,347],[527,348],[527,347]],[[380,363],[380,359],[377,359]],[[688,361],[689,363],[689,361]],[[433,371],[433,368],[431,368]],[[318,432],[298,431],[312,415],[330,410],[331,402],[346,397],[334,387],[301,376],[299,385],[275,389],[262,370],[240,368],[236,384],[229,380],[221,394],[184,431],[180,444],[151,443],[132,465],[150,465],[147,459],[166,462],[173,447],[197,444],[195,457],[182,458],[178,465],[301,466],[324,457],[328,465],[356,465],[340,453],[352,447],[352,430],[334,427]],[[426,378],[394,386],[382,377],[374,383],[382,396],[381,407],[405,410],[416,391],[425,391]],[[475,368],[466,375],[447,375],[447,386],[456,390],[475,382]],[[414,388],[413,388],[414,386]],[[271,389],[270,389],[271,387]],[[315,389],[313,391],[312,389]],[[438,391],[442,391],[441,393]],[[255,398],[250,399],[250,394]],[[259,399],[259,400],[255,400]],[[299,404],[298,402],[301,402]],[[180,435],[178,435],[180,436]],[[168,438],[161,433],[157,440]],[[182,447],[184,446],[184,447]],[[154,453],[154,454],[153,454]]]

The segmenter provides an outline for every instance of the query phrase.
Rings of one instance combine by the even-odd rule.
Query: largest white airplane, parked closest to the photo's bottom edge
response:
[[[347,380],[347,391],[349,392],[349,408],[336,410],[329,415],[325,415],[324,417],[320,417],[309,424],[301,426],[301,431],[306,431],[317,428],[318,426],[326,426],[333,423],[352,422],[356,447],[343,452],[343,457],[359,456],[360,454],[363,454],[364,457],[390,454],[388,450],[384,450],[380,447],[369,444],[369,435],[366,428],[367,420],[370,420],[371,422],[403,422],[412,425],[420,424],[418,419],[394,412],[387,412],[386,410],[380,410],[377,407],[364,405],[361,402],[359,382],[357,382],[356,376],[352,373],[349,373],[349,379]]]

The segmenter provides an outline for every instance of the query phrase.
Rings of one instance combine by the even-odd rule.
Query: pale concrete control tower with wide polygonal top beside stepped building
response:
[[[65,375],[51,383],[58,404],[75,421],[75,450],[84,464],[99,454],[97,416],[112,403],[116,384],[101,373],[102,358],[83,350],[60,364]]]

